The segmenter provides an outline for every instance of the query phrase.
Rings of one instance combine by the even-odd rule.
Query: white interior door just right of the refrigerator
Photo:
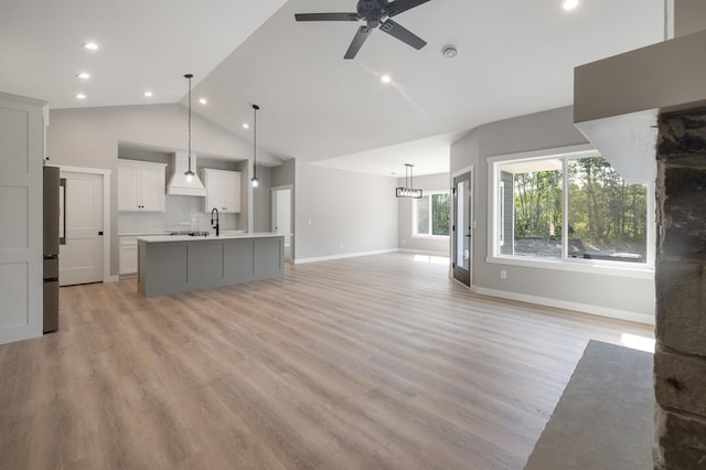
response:
[[[65,244],[58,250],[61,286],[103,281],[103,175],[62,171],[60,203]]]

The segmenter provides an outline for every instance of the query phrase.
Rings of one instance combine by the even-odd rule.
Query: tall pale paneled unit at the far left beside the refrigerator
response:
[[[43,107],[0,93],[0,344],[42,334]]]

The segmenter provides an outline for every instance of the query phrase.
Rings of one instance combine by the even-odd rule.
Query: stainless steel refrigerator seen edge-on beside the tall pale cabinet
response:
[[[60,185],[58,168],[44,167],[44,333],[58,329]]]

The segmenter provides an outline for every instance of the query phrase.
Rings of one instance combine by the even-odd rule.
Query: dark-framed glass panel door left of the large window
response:
[[[471,173],[453,179],[453,278],[471,285]]]

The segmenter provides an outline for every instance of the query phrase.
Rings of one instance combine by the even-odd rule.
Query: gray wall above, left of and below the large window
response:
[[[472,285],[480,292],[507,298],[546,299],[550,305],[587,306],[591,311],[624,318],[654,321],[654,280],[607,274],[499,265],[486,261],[488,164],[491,156],[553,149],[587,143],[573,125],[573,108],[565,107],[513,119],[491,122],[473,129],[451,147],[451,173],[474,167],[474,231]],[[507,279],[500,279],[500,269]]]

